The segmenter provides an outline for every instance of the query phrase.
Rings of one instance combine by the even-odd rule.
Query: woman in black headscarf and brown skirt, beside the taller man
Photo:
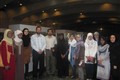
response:
[[[29,62],[30,62],[30,55],[31,55],[31,47],[30,47],[30,35],[28,28],[23,29],[23,58],[25,64],[25,79],[28,79],[28,70],[29,70]]]

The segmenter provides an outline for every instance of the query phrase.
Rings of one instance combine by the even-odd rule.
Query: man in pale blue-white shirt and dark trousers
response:
[[[37,78],[37,69],[39,64],[39,78],[44,70],[44,50],[46,47],[45,37],[41,34],[42,28],[36,27],[36,33],[31,36],[31,47],[33,57],[33,79]]]

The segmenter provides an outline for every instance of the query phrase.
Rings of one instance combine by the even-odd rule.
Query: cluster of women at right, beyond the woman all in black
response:
[[[72,78],[120,80],[120,44],[115,35],[109,41],[98,32],[88,33],[85,41],[80,35],[70,35],[68,43]]]

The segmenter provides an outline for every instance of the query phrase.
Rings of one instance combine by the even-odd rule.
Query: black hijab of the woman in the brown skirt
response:
[[[24,31],[25,30],[28,30],[28,28],[24,28],[23,29],[23,37],[22,37],[22,40],[23,40],[23,46],[24,47],[28,47],[30,45],[30,36],[29,36],[29,33],[28,35],[25,35],[24,34]],[[29,31],[29,30],[28,30]]]

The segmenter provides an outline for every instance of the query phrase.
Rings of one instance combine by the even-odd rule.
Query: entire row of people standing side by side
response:
[[[108,40],[98,32],[88,33],[85,40],[81,34],[64,33],[54,36],[42,28],[29,35],[27,28],[13,31],[7,29],[0,43],[0,80],[28,79],[30,57],[33,62],[33,80],[41,79],[46,70],[47,76],[60,78],[69,76],[79,80],[120,80],[120,44],[115,35]],[[70,65],[69,65],[70,64]],[[24,69],[25,66],[25,69]]]

